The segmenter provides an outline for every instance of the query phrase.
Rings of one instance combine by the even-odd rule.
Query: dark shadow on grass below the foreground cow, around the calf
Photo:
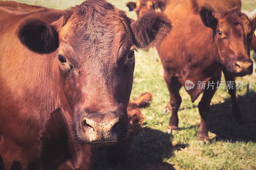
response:
[[[104,147],[98,148],[95,170],[172,170],[172,165],[163,163],[163,159],[172,156],[174,147],[171,143],[171,135],[162,131],[143,128],[142,132],[134,138],[128,158],[124,164],[109,164],[106,159]]]

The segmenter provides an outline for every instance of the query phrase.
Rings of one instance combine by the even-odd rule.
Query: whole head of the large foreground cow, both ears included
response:
[[[87,0],[50,25],[27,19],[17,33],[30,50],[56,53],[78,139],[107,144],[127,135],[136,47],[155,46],[171,27],[161,13],[134,21],[104,0]]]

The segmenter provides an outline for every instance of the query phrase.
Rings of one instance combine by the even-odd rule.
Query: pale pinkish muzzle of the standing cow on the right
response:
[[[234,76],[242,77],[247,74],[252,74],[252,60],[248,59],[233,59],[228,62],[227,70]]]

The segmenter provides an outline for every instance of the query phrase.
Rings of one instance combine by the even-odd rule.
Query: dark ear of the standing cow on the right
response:
[[[216,26],[218,24],[218,19],[216,19],[212,13],[212,10],[209,10],[205,7],[203,7],[200,11],[200,17],[202,19],[202,22],[205,26],[212,28],[213,30],[216,30]]]

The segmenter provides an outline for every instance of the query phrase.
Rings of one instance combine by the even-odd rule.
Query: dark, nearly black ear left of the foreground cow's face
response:
[[[38,19],[28,19],[20,24],[17,35],[31,51],[47,54],[59,47],[59,36],[52,25]]]

